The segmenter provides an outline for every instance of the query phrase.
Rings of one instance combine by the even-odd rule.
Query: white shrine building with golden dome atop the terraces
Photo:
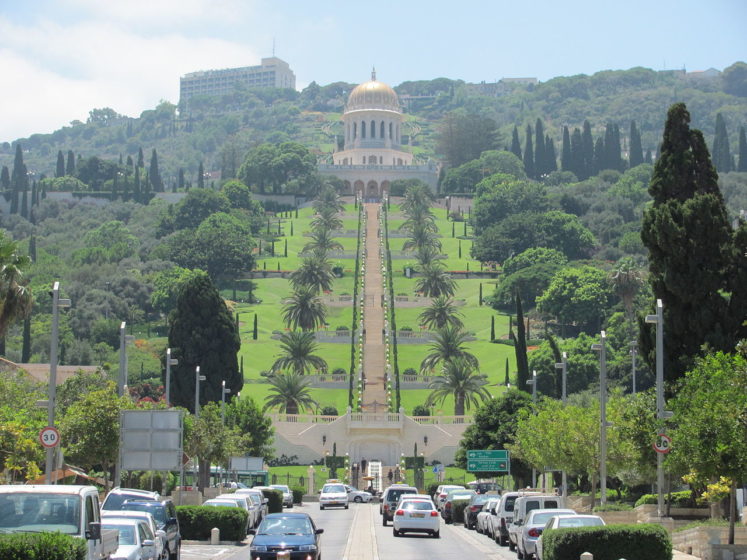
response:
[[[436,192],[438,165],[418,163],[402,148],[404,117],[397,93],[377,81],[375,71],[350,93],[342,122],[343,149],[332,154],[332,164],[320,164],[319,172],[342,179],[348,194],[378,200],[398,179],[420,179]]]

